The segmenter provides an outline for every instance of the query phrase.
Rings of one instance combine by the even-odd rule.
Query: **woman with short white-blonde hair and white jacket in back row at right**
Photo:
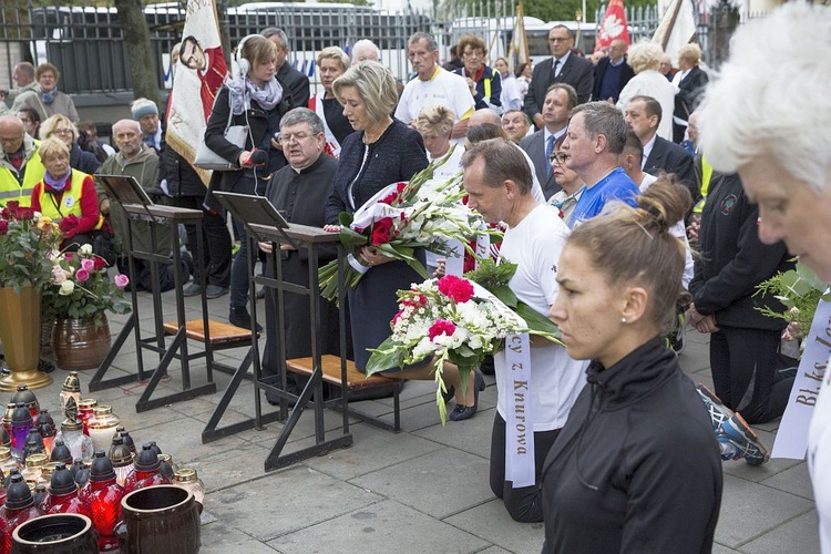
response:
[[[675,93],[678,91],[673,83],[660,74],[660,57],[664,50],[654,42],[639,42],[629,47],[626,62],[632,65],[635,76],[629,79],[620,96],[617,107],[625,110],[626,104],[635,96],[650,96],[658,101],[663,116],[658,124],[658,135],[667,141],[673,140],[673,117],[675,110]]]

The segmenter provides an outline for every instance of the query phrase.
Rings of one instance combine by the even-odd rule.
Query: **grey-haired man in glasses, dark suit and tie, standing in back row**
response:
[[[574,35],[565,25],[554,25],[548,31],[551,60],[543,60],[534,68],[531,85],[525,95],[525,113],[536,129],[543,129],[543,102],[548,86],[566,83],[577,91],[577,103],[588,102],[594,86],[594,65],[585,58],[572,53]]]

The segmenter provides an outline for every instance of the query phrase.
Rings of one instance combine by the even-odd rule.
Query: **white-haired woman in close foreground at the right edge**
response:
[[[714,168],[738,171],[748,196],[758,203],[761,240],[784,240],[791,254],[829,283],[831,96],[821,75],[831,74],[831,59],[806,55],[823,44],[825,51],[831,48],[829,7],[793,2],[749,21],[730,42],[730,59],[707,91],[698,126]],[[829,314],[818,309],[818,317],[827,327]],[[825,347],[821,355],[818,365],[824,368]],[[827,370],[808,432],[808,466],[822,552],[831,553],[831,373]]]

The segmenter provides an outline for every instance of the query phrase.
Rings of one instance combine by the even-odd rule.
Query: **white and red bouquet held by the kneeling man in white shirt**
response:
[[[499,270],[493,263],[485,263],[485,273],[494,279],[491,285],[501,289],[514,274],[515,265],[505,264]],[[510,291],[510,289],[507,289]],[[504,296],[504,290],[500,290]],[[512,294],[513,295],[513,294]],[[413,285],[410,290],[399,290],[399,312],[392,319],[392,335],[384,340],[367,362],[367,376],[392,367],[418,363],[432,357],[435,368],[435,403],[442,424],[447,419],[447,408],[442,393],[447,386],[442,378],[445,362],[459,368],[462,389],[466,389],[470,376],[486,355],[504,348],[509,335],[527,332],[557,340],[557,328],[536,314],[525,320],[520,315],[524,309],[516,308],[516,297],[509,304],[482,285],[463,277],[445,275],[440,279],[429,279]],[[511,305],[511,302],[513,305]],[[525,306],[525,305],[523,305]],[[527,306],[525,306],[527,308]],[[530,308],[527,308],[530,310]],[[531,310],[533,311],[533,310]]]

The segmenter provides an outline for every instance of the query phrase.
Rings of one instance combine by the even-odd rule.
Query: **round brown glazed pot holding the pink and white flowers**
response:
[[[110,351],[110,322],[104,316],[96,326],[92,318],[58,318],[52,329],[55,365],[68,371],[98,369]]]

